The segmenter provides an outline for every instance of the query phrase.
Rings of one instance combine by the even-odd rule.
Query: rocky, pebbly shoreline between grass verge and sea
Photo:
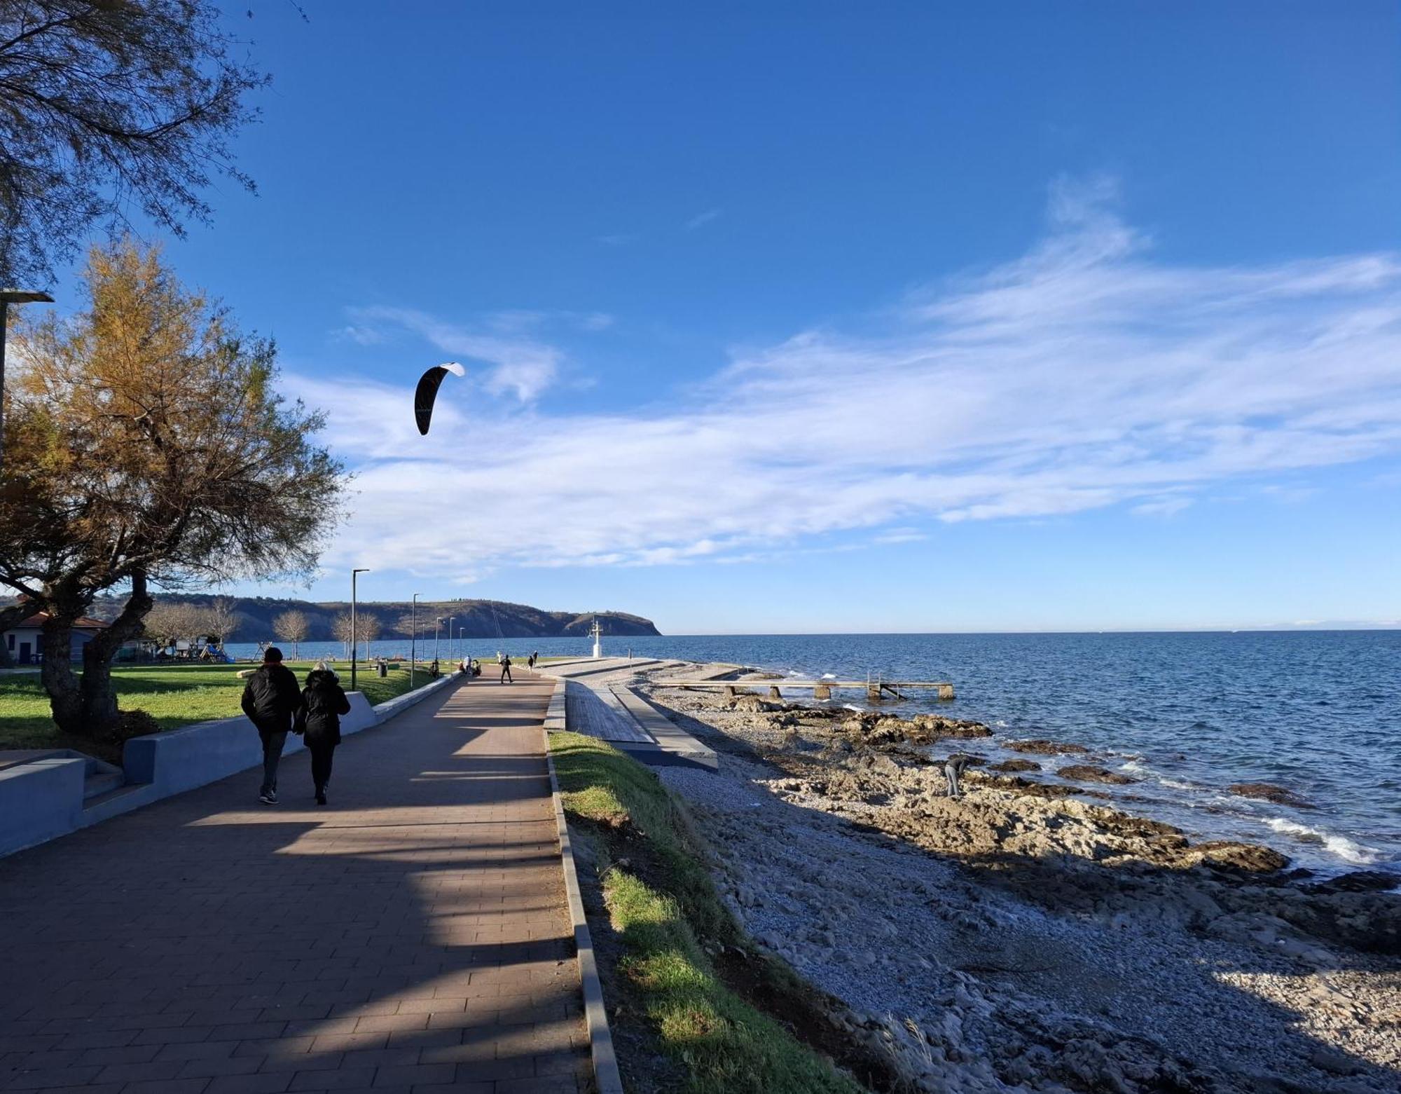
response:
[[[1269,847],[1101,804],[1115,773],[1073,742],[1000,742],[1017,759],[969,757],[950,798],[939,760],[989,727],[663,679],[649,697],[722,753],[716,774],[663,778],[716,849],[731,909],[912,1088],[1401,1083],[1394,878],[1320,882]]]

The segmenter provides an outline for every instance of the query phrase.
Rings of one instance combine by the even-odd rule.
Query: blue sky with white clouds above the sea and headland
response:
[[[356,468],[314,596],[1401,620],[1394,3],[303,7],[168,257]]]

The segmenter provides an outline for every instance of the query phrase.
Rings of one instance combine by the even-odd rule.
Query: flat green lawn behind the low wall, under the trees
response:
[[[287,668],[304,680],[314,662],[289,661]],[[122,710],[144,710],[161,729],[175,729],[214,718],[231,718],[240,713],[238,700],[244,680],[238,679],[240,665],[127,665],[112,669],[118,705]],[[349,665],[338,665],[342,687],[350,687]],[[429,683],[427,668],[415,673],[415,684]],[[356,684],[370,704],[385,703],[409,690],[408,668],[391,669],[380,679],[373,666],[361,665]],[[39,683],[39,673],[0,676],[0,750],[71,748],[91,752],[102,759],[119,756],[120,746],[108,748],[85,738],[60,734],[49,714],[49,697]]]

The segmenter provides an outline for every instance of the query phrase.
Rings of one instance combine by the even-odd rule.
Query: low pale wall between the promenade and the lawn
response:
[[[444,676],[378,707],[371,707],[364,693],[350,691],[350,713],[340,720],[340,732],[357,734],[387,722],[454,679]],[[289,734],[283,756],[304,748],[300,736]],[[0,771],[0,856],[258,767],[262,742],[252,722],[240,715],[132,738],[122,759],[126,785],[92,802],[83,801],[84,760],[35,760]]]

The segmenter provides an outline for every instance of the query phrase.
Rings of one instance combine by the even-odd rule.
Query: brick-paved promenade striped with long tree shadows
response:
[[[346,738],[325,808],[298,753],[0,858],[0,1090],[588,1090],[517,680]]]

